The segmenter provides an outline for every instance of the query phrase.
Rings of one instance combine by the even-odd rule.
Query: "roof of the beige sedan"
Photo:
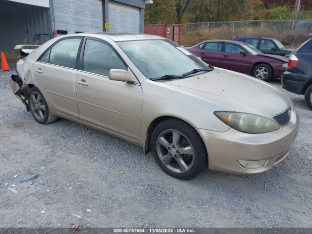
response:
[[[140,34],[140,33],[112,33],[112,32],[95,32],[95,33],[78,33],[78,34],[69,34],[65,37],[74,37],[74,36],[84,36],[84,37],[94,37],[102,39],[111,39],[115,42],[118,41],[130,41],[130,40],[156,40],[156,39],[165,39],[163,37]]]

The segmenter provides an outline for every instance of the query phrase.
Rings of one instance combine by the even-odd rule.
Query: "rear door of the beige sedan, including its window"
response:
[[[33,65],[39,90],[55,111],[78,119],[76,100],[77,55],[82,37],[59,40]]]

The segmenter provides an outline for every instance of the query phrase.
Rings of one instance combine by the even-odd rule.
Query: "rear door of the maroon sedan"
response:
[[[222,66],[222,46],[223,46],[223,42],[220,42],[220,41],[206,42],[206,44],[200,48],[200,52],[198,56],[204,62],[212,66],[221,67]]]

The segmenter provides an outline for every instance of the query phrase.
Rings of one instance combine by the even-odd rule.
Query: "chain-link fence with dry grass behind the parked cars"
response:
[[[246,20],[176,24],[181,45],[194,45],[209,39],[232,39],[254,35],[279,39],[284,45],[296,47],[312,33],[312,20]]]

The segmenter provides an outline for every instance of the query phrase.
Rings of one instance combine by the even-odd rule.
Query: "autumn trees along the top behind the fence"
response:
[[[292,20],[298,0],[154,0],[145,24],[236,20]],[[301,0],[298,19],[312,19],[312,0]]]

